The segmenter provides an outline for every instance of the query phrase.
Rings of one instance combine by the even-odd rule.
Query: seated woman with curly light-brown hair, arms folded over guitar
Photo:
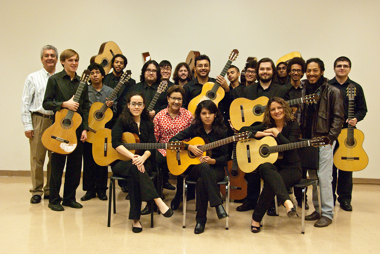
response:
[[[239,132],[250,131],[255,138],[272,136],[277,144],[289,144],[298,141],[300,136],[299,125],[296,122],[293,111],[285,100],[274,97],[268,101],[264,111],[262,124],[242,127]],[[260,221],[268,210],[274,196],[287,209],[288,217],[297,214],[296,207],[290,200],[287,187],[291,187],[301,180],[301,163],[296,150],[283,152],[283,159],[275,163],[263,163],[258,168],[261,179],[264,180],[263,190],[252,214],[251,231],[260,232]]]

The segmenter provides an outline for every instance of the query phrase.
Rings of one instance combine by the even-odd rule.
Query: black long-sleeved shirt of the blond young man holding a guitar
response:
[[[43,108],[45,110],[52,110],[57,112],[61,109],[61,105],[63,102],[66,102],[73,97],[76,93],[81,78],[75,74],[73,80],[71,80],[70,76],[63,69],[61,72],[52,75],[47,80],[45,97],[43,101]],[[76,111],[82,117],[82,124],[78,127],[78,130],[82,132],[82,130],[89,129],[89,111],[90,111],[90,102],[89,102],[89,91],[87,84],[84,84],[81,96],[79,97],[79,107]],[[53,123],[54,123],[53,119]]]

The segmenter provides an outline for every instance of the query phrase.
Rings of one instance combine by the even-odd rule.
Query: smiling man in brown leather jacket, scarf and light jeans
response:
[[[318,220],[315,227],[327,227],[334,217],[334,199],[332,197],[332,164],[335,142],[344,123],[343,96],[340,89],[329,85],[328,79],[323,77],[325,65],[319,58],[310,58],[306,61],[305,89],[306,94],[318,94],[317,103],[302,104],[298,113],[302,138],[327,136],[330,144],[319,148],[319,177],[321,207],[318,205],[317,186],[313,185],[313,205],[315,211],[306,216],[305,220]],[[309,172],[310,178],[316,179],[315,171]],[[322,215],[319,215],[321,209]]]

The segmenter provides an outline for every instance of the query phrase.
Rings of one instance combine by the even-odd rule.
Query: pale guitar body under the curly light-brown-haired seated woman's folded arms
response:
[[[265,162],[274,163],[278,158],[278,152],[271,154],[262,152],[263,148],[269,146],[277,146],[277,142],[272,136],[265,136],[261,140],[238,141],[236,144],[236,158],[241,171],[249,173]]]

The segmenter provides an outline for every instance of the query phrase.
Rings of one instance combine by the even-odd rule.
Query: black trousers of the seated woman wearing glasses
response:
[[[113,174],[128,178],[130,220],[140,220],[142,201],[159,198],[157,190],[152,180],[150,180],[149,175],[152,172],[152,164],[149,160],[145,161],[144,168],[145,172],[140,172],[137,166],[132,164],[132,160],[117,161],[111,166]]]

